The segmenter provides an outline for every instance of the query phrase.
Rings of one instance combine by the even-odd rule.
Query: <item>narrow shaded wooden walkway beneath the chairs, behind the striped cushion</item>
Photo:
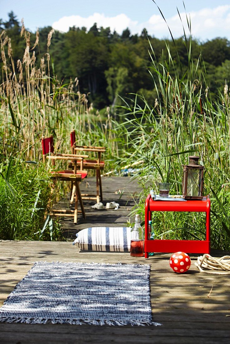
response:
[[[87,178],[86,181],[80,184],[80,189],[82,193],[96,193],[96,179],[94,177]],[[94,205],[96,201],[83,200],[86,219],[83,219],[81,214],[78,214],[78,224],[74,225],[72,218],[62,217],[61,228],[64,232],[64,237],[73,239],[77,231],[88,227],[122,227],[127,225],[130,211],[132,207],[135,206],[136,202],[138,202],[140,190],[140,186],[136,179],[119,176],[102,177],[102,203],[104,209],[92,209],[91,206]],[[112,201],[119,203],[120,207],[118,210],[106,210],[106,203]],[[70,207],[68,200],[62,201],[61,207]]]

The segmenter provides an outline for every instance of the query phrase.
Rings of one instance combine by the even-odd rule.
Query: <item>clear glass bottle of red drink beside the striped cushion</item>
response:
[[[131,229],[131,257],[143,257],[144,255],[144,231],[141,228],[141,218],[136,214],[134,226]]]

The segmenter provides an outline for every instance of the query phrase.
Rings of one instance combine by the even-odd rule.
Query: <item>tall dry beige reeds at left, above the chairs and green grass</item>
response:
[[[39,44],[38,32],[30,49],[30,33],[22,23],[21,35],[25,38],[26,48],[16,67],[10,38],[6,31],[1,32],[0,136],[3,154],[8,156],[13,145],[14,152],[24,152],[25,159],[39,161],[40,138],[50,134],[54,136],[57,149],[61,146],[69,152],[72,129],[76,129],[79,144],[109,145],[109,154],[117,154],[109,108],[105,111],[107,120],[102,123],[99,111],[88,104],[86,94],[80,93],[77,77],[68,84],[58,81],[49,55],[53,34],[53,30],[48,34],[47,53],[40,57],[37,67],[37,57],[31,50]]]

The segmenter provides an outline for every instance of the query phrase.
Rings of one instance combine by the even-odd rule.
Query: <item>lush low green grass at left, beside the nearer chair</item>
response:
[[[44,228],[51,182],[43,164],[11,158],[1,163],[0,237],[8,240],[57,240],[60,228]],[[50,224],[51,225],[51,224]]]

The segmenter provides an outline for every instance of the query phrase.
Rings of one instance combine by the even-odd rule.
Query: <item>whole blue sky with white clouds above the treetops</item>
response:
[[[186,13],[191,20],[191,32],[198,41],[215,37],[230,40],[230,1],[227,0],[156,0],[174,38],[188,33]],[[19,22],[32,32],[37,28],[52,26],[54,30],[67,32],[70,26],[98,28],[110,26],[119,34],[127,27],[132,34],[140,34],[143,28],[157,38],[170,38],[169,29],[152,0],[0,0],[0,19],[8,20],[13,11]],[[178,11],[180,13],[180,17]],[[182,26],[182,23],[183,26]]]

